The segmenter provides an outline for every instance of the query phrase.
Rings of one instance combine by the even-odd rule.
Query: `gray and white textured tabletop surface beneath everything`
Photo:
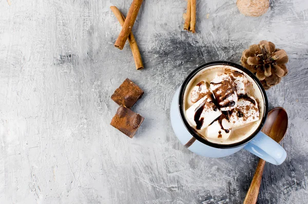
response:
[[[259,203],[306,203],[308,2],[273,0],[254,18],[235,0],[200,0],[191,34],[182,29],[184,0],[145,0],[133,27],[142,71],[129,46],[113,47],[120,26],[109,6],[126,13],[130,2],[0,0],[0,203],[242,202],[258,159],[190,153],[172,133],[169,104],[195,67],[239,63],[260,40],[290,57],[289,75],[267,91],[290,125],[288,157],[266,164]],[[145,117],[133,139],[109,125],[118,107],[110,96],[127,77],[145,91],[133,107]]]

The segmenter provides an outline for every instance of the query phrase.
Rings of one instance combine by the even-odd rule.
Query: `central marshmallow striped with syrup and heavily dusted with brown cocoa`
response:
[[[220,106],[220,110],[231,110],[237,106],[238,98],[236,89],[229,76],[216,76],[210,82],[210,88]]]

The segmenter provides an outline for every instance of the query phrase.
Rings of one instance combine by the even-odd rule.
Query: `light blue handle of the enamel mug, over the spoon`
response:
[[[275,140],[260,132],[244,147],[248,152],[261,159],[276,165],[280,165],[286,158],[286,152]]]

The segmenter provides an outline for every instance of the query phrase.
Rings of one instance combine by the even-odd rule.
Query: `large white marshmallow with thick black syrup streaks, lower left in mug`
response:
[[[201,131],[218,118],[221,112],[213,103],[211,97],[207,95],[190,106],[185,114],[190,125]]]

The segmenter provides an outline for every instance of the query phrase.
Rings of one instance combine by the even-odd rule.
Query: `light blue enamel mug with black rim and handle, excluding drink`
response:
[[[183,98],[187,84],[190,82],[191,79],[193,79],[197,75],[199,71],[216,65],[230,66],[246,73],[246,75],[248,75],[255,81],[262,94],[264,111],[263,115],[260,115],[260,118],[261,117],[262,118],[259,126],[252,135],[236,143],[219,144],[210,142],[205,138],[201,137],[196,132],[196,130],[189,125],[188,121],[186,121],[185,119]],[[272,138],[268,137],[267,135],[261,132],[261,129],[267,117],[267,113],[268,113],[268,101],[266,93],[261,82],[257,79],[257,77],[251,71],[242,67],[241,65],[231,62],[217,61],[217,62],[206,63],[204,65],[199,66],[197,69],[195,69],[190,73],[190,75],[184,80],[183,84],[176,90],[175,95],[171,102],[170,120],[175,135],[178,137],[180,142],[188,150],[198,155],[211,158],[219,158],[232,155],[244,148],[245,150],[253,153],[254,155],[260,157],[261,159],[269,163],[279,165],[286,158],[285,150],[276,141],[274,141]]]

